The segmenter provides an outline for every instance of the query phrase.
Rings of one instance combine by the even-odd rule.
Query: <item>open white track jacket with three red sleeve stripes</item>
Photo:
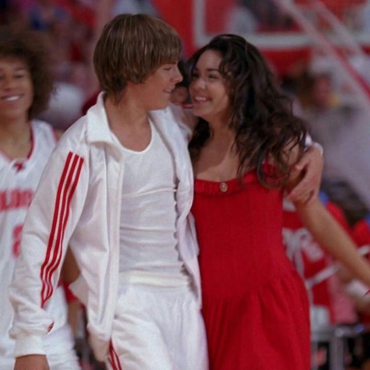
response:
[[[190,117],[173,106],[152,111],[150,117],[175,161],[178,251],[200,305],[198,244],[189,213],[193,172],[183,125]],[[10,288],[15,356],[45,353],[43,338],[53,325],[45,308],[69,244],[81,271],[71,289],[86,306],[87,329],[97,359],[106,358],[118,294],[124,175],[125,156],[113,140],[102,93],[97,104],[59,140],[26,217]]]

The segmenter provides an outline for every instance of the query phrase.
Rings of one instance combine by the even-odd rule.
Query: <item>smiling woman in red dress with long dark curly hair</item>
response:
[[[304,123],[259,51],[220,35],[190,60],[195,172],[211,370],[309,370],[305,286],[282,244],[283,194],[301,174]],[[295,202],[317,241],[370,285],[370,268],[315,195]],[[332,246],[334,245],[334,247]]]

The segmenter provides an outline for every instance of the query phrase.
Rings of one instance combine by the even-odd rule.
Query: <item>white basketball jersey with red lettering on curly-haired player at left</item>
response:
[[[13,309],[8,287],[20,252],[22,226],[27,209],[37,188],[46,162],[55,147],[53,128],[42,121],[32,121],[32,149],[27,158],[11,159],[0,151],[0,359],[13,357],[13,340],[9,329]],[[53,331],[66,323],[66,304],[62,294],[55,292],[48,311],[55,317]]]

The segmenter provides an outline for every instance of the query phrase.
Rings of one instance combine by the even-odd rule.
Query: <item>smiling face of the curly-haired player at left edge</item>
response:
[[[0,121],[28,119],[33,83],[27,64],[18,58],[0,58]]]

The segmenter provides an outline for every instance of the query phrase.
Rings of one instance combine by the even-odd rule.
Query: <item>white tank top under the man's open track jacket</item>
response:
[[[175,164],[151,122],[150,128],[151,140],[143,151],[121,145],[120,279],[124,284],[188,285],[177,251]]]

